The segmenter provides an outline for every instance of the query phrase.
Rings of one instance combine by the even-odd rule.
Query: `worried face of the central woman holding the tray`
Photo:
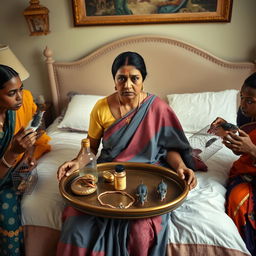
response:
[[[122,66],[115,75],[115,86],[121,97],[136,97],[143,88],[141,72],[134,66]]]

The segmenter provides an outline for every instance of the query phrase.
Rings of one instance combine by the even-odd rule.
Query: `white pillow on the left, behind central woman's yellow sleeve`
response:
[[[89,129],[90,113],[96,102],[103,97],[98,95],[74,95],[58,128],[87,132]]]

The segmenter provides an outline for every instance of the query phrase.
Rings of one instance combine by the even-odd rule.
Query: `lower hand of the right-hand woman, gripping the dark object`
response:
[[[239,135],[229,132],[223,138],[223,144],[231,149],[235,154],[247,153],[255,157],[256,146],[251,141],[250,136],[243,130],[238,130]]]

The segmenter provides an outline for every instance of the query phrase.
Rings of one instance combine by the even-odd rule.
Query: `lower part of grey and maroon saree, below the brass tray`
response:
[[[107,219],[68,206],[57,256],[165,255],[169,214],[147,219]]]

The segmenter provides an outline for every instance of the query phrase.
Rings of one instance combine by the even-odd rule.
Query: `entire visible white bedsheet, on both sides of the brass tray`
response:
[[[63,132],[57,128],[57,120],[48,129],[48,134],[52,137],[52,151],[38,163],[39,179],[33,193],[22,199],[22,221],[24,225],[60,230],[65,203],[59,194],[57,167],[77,154],[86,134]],[[222,148],[206,162],[208,172],[196,173],[197,187],[171,213],[170,243],[223,246],[250,255],[224,210],[228,170],[236,159],[231,151]]]

